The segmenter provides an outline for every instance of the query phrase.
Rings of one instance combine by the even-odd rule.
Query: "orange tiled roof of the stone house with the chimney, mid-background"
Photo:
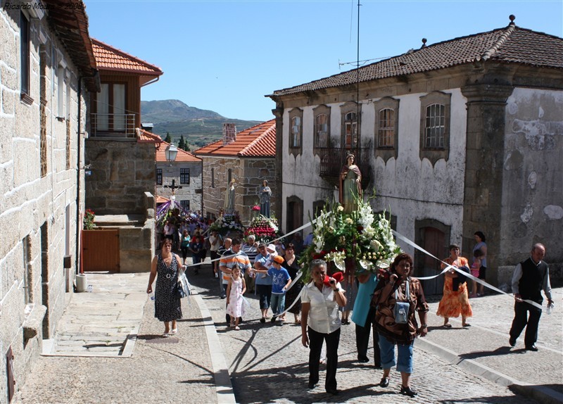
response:
[[[268,120],[236,134],[236,140],[223,139],[194,151],[197,156],[275,157],[276,120]]]

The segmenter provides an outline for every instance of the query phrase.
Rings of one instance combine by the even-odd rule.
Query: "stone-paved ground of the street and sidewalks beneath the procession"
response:
[[[114,274],[111,277],[119,279],[130,275]],[[135,289],[131,293],[144,293],[148,274],[136,276],[140,279],[135,286],[129,279],[131,289]],[[549,384],[555,389],[562,384],[562,289],[557,289],[555,313],[544,315],[540,322],[538,353],[519,350],[521,341],[517,348],[513,348],[515,353],[503,351],[502,347],[507,345],[512,308],[510,301],[506,303],[502,296],[473,299],[475,317],[473,327],[469,329],[458,329],[455,320],[453,329],[441,329],[437,327],[441,319],[429,316],[432,327],[429,336],[415,343],[412,386],[419,391],[419,396],[411,400],[398,393],[398,373],[393,371],[390,386],[381,389],[377,386],[381,370],[375,370],[372,364],[355,361],[353,325],[343,326],[341,334],[337,374],[341,393],[339,396],[325,393],[322,383],[309,391],[308,349],[301,346],[300,326],[260,324],[258,301],[255,296],[248,296],[253,307],[245,316],[241,331],[227,329],[224,324],[225,301],[217,297],[219,283],[211,277],[209,265],[205,265],[199,275],[190,273],[189,279],[198,294],[182,300],[184,319],[179,321],[177,336],[160,337],[163,324],[153,317],[153,302],[145,293],[144,302],[138,303],[139,308],[144,307],[144,313],[129,358],[123,355],[114,358],[42,356],[13,402],[232,403],[236,400],[237,403],[392,404],[502,403],[510,400],[510,403],[524,404],[536,401],[508,389],[506,383],[502,383],[502,377]],[[89,283],[93,284],[94,291],[74,296],[68,313],[72,313],[70,308],[82,295],[91,302],[90,313],[107,314],[110,311],[108,305],[96,303],[92,298],[102,288],[96,286],[94,280],[89,279]],[[119,281],[114,283],[120,286]],[[432,304],[431,313],[435,313],[436,303]],[[69,318],[72,322],[80,321],[64,315],[62,324],[59,324],[61,330],[68,325]],[[546,328],[557,332],[550,335]],[[80,327],[77,334],[80,334]],[[555,339],[553,334],[557,334]],[[134,340],[134,336],[129,339]],[[516,370],[510,370],[510,361],[514,361],[512,365]],[[460,365],[456,365],[458,362]],[[491,371],[481,376],[474,374],[481,372],[483,367],[491,368]],[[323,367],[321,371],[323,378]],[[491,381],[499,374],[504,375],[501,375],[500,383]],[[536,380],[531,374],[538,374],[539,378]],[[538,402],[545,400],[538,399]]]

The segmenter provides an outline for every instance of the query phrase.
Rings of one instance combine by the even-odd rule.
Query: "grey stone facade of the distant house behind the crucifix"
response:
[[[176,201],[189,201],[190,210],[201,210],[202,201],[202,174],[201,174],[201,161],[200,162],[175,162],[170,163],[156,163],[156,168],[163,170],[163,184],[156,185],[156,194],[170,199],[172,190],[165,188],[165,185],[170,186],[172,179],[175,180],[176,186],[181,186],[181,189],[176,189]],[[180,183],[180,168],[189,168],[189,184]]]

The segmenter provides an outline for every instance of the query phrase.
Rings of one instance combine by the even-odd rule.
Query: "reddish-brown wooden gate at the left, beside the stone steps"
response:
[[[84,272],[119,272],[119,229],[82,230]]]

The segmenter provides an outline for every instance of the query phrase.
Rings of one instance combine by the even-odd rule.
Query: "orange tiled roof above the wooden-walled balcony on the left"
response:
[[[153,76],[163,74],[163,71],[155,65],[142,61],[113,46],[104,44],[98,39],[92,38],[92,49],[94,49],[94,57],[99,70],[119,70]]]

